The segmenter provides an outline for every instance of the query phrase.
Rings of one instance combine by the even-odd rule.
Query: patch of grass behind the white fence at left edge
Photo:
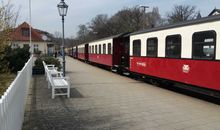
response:
[[[0,98],[15,79],[15,74],[0,74]]]

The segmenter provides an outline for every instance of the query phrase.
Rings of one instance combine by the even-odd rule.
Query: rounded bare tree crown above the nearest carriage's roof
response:
[[[187,20],[196,19],[198,15],[195,6],[190,5],[175,5],[173,10],[167,14],[167,20],[169,23],[177,23]]]

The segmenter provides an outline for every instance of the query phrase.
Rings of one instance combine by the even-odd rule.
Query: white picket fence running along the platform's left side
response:
[[[32,77],[31,57],[0,99],[0,130],[21,130]]]

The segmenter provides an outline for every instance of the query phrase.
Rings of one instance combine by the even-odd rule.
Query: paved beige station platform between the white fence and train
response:
[[[23,130],[219,130],[220,106],[66,58],[70,98],[33,77]]]

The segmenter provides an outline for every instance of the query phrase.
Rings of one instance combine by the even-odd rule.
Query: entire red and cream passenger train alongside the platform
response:
[[[68,49],[70,56],[152,83],[220,97],[220,16],[118,34]]]

